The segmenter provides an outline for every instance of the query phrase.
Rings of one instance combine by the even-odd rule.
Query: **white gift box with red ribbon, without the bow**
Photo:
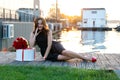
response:
[[[35,59],[35,49],[17,49],[16,60],[17,61],[33,61]]]

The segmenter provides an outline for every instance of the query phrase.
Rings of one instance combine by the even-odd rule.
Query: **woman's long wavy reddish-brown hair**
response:
[[[42,32],[44,32],[45,34],[47,34],[48,31],[49,31],[49,27],[48,27],[48,25],[47,25],[47,23],[46,23],[46,20],[45,20],[44,18],[42,18],[42,17],[36,18],[36,19],[34,20],[33,33],[35,34],[35,31],[36,31],[36,29],[37,29],[37,27],[38,27],[38,21],[39,21],[39,20],[42,20],[42,24],[43,24]]]

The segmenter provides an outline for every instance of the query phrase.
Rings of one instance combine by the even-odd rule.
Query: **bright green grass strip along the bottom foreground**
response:
[[[0,80],[119,80],[113,71],[46,66],[0,66]]]

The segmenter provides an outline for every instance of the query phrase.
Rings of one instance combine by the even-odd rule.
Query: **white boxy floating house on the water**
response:
[[[84,28],[103,28],[106,27],[105,8],[83,8],[82,26]]]

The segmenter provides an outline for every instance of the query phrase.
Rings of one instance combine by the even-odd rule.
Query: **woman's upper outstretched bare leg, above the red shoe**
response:
[[[87,61],[91,61],[91,58],[81,56],[78,53],[75,53],[75,52],[69,51],[69,50],[62,51],[62,55],[65,55],[65,56],[68,56],[68,57],[71,57],[71,58],[79,58],[79,59],[85,59]]]

